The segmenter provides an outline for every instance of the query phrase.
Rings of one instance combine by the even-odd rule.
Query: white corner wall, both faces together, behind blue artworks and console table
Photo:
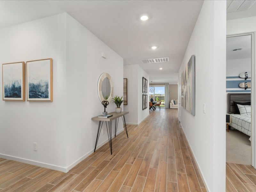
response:
[[[0,29],[0,40],[1,63],[53,59],[53,102],[0,102],[0,157],[68,171],[93,152],[98,122],[91,118],[104,111],[100,75],[109,73],[114,95],[123,95],[123,59],[67,13]],[[108,140],[102,133],[98,147]]]

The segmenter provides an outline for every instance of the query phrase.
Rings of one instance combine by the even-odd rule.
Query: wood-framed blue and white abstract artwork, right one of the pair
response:
[[[27,61],[27,100],[53,101],[51,58]]]

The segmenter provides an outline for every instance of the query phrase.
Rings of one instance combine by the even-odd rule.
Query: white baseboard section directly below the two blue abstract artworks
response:
[[[33,160],[29,160],[29,159],[24,159],[24,158],[10,156],[10,155],[4,155],[4,154],[0,154],[0,157],[4,158],[4,159],[13,160],[13,161],[19,161],[19,162],[26,163],[26,164],[36,165],[36,166],[39,166],[39,167],[45,167],[45,168],[48,168],[48,169],[53,169],[53,170],[57,170],[57,171],[61,171],[61,172],[68,172],[67,167],[61,167],[61,166],[58,166],[58,165],[42,163],[42,162],[39,162],[39,161],[33,161]]]

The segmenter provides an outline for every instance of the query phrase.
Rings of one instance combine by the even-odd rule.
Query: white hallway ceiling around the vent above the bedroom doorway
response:
[[[227,0],[227,7],[231,3],[231,1],[232,0]],[[239,19],[244,17],[252,17],[252,16],[256,16],[256,3],[254,3],[249,10],[227,13],[227,20]]]

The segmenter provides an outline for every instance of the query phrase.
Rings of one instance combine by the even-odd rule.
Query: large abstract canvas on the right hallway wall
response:
[[[188,61],[185,70],[181,73],[181,106],[192,115],[195,111],[195,55]]]

